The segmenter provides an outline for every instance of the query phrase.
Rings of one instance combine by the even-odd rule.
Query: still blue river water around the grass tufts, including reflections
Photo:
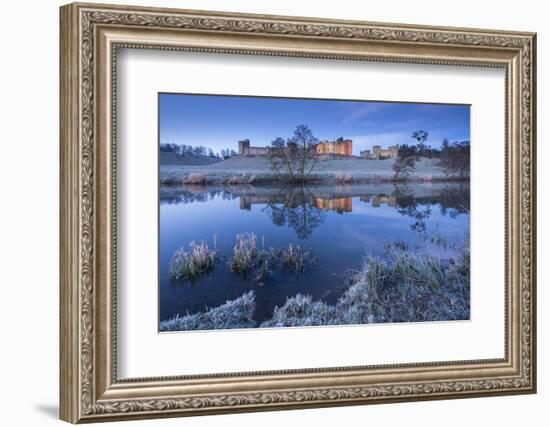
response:
[[[256,294],[255,320],[263,321],[298,293],[333,304],[344,276],[365,254],[401,242],[414,250],[452,256],[469,233],[467,183],[350,184],[281,187],[161,187],[160,320],[192,314]],[[253,232],[266,248],[289,243],[311,250],[315,267],[301,275],[277,270],[263,282],[232,273],[235,236]],[[214,237],[215,236],[215,237]],[[191,241],[214,245],[226,258],[195,283],[173,282],[168,265]]]

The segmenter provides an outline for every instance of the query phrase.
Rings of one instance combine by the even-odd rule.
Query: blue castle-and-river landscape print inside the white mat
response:
[[[470,318],[470,106],[160,93],[159,329]]]

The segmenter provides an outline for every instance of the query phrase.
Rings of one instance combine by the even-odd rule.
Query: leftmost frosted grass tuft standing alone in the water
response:
[[[189,243],[189,251],[179,248],[168,266],[171,280],[195,280],[204,273],[214,269],[218,259],[218,251],[214,241],[214,249],[206,242]]]

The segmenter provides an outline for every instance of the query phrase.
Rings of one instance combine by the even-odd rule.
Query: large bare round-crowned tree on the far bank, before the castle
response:
[[[269,160],[275,172],[289,181],[305,182],[317,164],[318,139],[307,125],[299,125],[292,138],[275,138],[269,149]]]

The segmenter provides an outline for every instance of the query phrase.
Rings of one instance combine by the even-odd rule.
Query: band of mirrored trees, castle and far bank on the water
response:
[[[213,187],[186,186],[184,189],[165,189],[161,204],[204,203],[216,197],[239,199],[239,208],[250,211],[261,206],[277,226],[294,230],[299,239],[307,239],[325,220],[325,212],[353,212],[353,198],[372,208],[395,208],[412,218],[410,229],[426,232],[426,220],[438,208],[442,216],[456,218],[470,212],[470,189],[465,183],[432,185],[336,185],[254,187],[250,185]]]

